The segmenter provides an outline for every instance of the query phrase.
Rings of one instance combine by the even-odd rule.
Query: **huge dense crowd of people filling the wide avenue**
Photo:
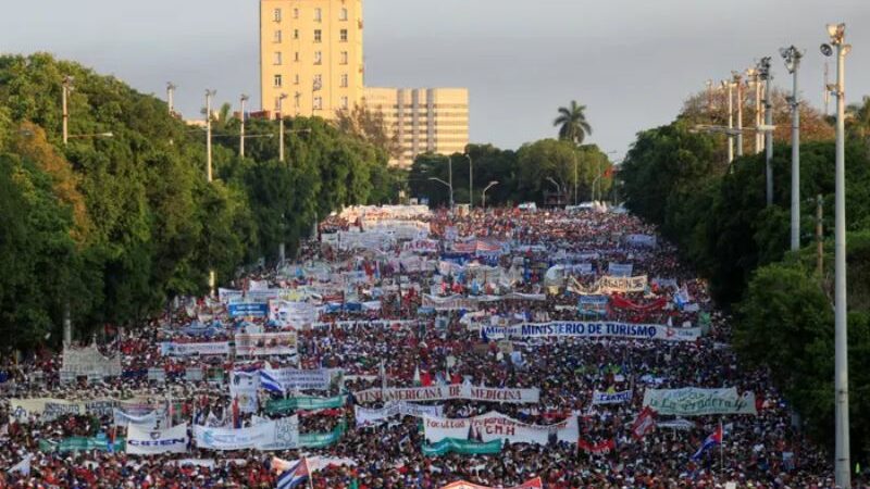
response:
[[[642,280],[625,290],[602,287],[613,276]],[[233,313],[234,302],[256,303],[270,290],[310,308],[291,318],[276,316],[271,302],[250,315]],[[678,338],[696,337],[497,334],[551,322],[657,325]],[[165,348],[232,344],[240,333],[268,331],[294,331],[294,351],[176,355]],[[107,326],[79,341],[120,361],[120,375],[64,378],[62,352],[7,359],[0,365],[0,488],[275,487],[275,457],[312,461],[304,484],[316,489],[430,489],[457,480],[509,488],[536,478],[551,489],[834,487],[830,457],[793,424],[769,376],[738,362],[729,339],[729,318],[716,310],[705,281],[655,228],[631,215],[493,209],[373,217],[356,210],[323,222],[294,263],[248,272],[213,297],[179,298],[147,324]],[[234,373],[278,368],[327,369],[331,381],[318,389],[259,389],[257,408],[240,409],[228,387]],[[450,385],[537,389],[539,396],[419,404],[437,405],[446,418],[495,411],[536,426],[576,417],[576,439],[514,439],[497,453],[433,455],[424,447],[437,440],[419,415],[365,424],[355,415],[358,406],[384,405],[361,392]],[[688,387],[751,392],[756,414],[645,411],[648,390]],[[593,402],[596,392],[626,391],[624,402]],[[339,401],[266,409],[286,398]],[[38,400],[109,402],[51,415],[21,409]],[[124,410],[130,419],[156,413],[154,430],[187,423],[186,450],[126,453],[119,444],[128,435],[117,423]],[[654,421],[638,435],[644,413]],[[194,425],[244,429],[290,414],[298,416],[300,439],[337,439],[290,450],[215,451],[192,436]],[[716,432],[721,438],[708,447]],[[71,439],[94,441],[65,443]]]

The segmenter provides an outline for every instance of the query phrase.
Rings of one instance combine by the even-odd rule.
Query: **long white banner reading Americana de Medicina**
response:
[[[357,402],[386,401],[443,401],[463,399],[467,401],[507,402],[512,404],[536,403],[540,397],[539,389],[512,389],[494,387],[474,387],[468,385],[430,386],[389,389],[366,389],[353,392]]]

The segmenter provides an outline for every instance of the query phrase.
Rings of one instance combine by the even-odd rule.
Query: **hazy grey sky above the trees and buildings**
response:
[[[198,114],[259,101],[258,0],[7,2],[0,50],[49,51]],[[555,134],[559,105],[588,106],[592,142],[623,154],[688,93],[760,57],[806,49],[805,96],[821,105],[826,22],[846,22],[849,101],[870,95],[870,0],[364,0],[366,85],[468,87],[471,140],[517,148]],[[834,73],[833,61],[831,73]]]

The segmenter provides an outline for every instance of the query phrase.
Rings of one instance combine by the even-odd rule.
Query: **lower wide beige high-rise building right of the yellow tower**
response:
[[[366,87],[364,103],[383,114],[399,155],[390,163],[410,165],[420,153],[464,152],[469,143],[469,91],[465,88]]]

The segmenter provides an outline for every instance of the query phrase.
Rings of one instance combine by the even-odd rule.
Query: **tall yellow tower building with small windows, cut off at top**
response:
[[[333,118],[360,104],[362,0],[260,0],[260,88],[273,116]]]

